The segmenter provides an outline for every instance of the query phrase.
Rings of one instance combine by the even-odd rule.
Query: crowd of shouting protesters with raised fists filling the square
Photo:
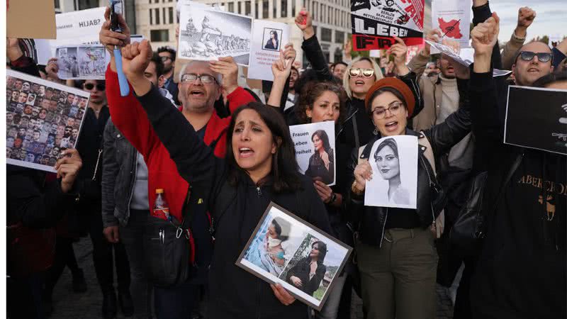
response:
[[[100,31],[111,55],[105,80],[61,80],[57,59],[35,65],[18,39],[7,39],[10,69],[90,94],[80,133],[54,132],[77,140],[77,149],[46,158],[57,174],[7,165],[9,318],[56,312],[52,293],[65,267],[74,293],[95,289],[73,251],[86,235],[103,318],[350,318],[355,291],[364,318],[433,319],[438,284],[452,294],[455,319],[565,318],[566,157],[505,145],[503,114],[511,84],[567,89],[567,40],[527,42],[537,20],[524,7],[501,50],[488,0],[473,0],[472,11],[474,63],[464,67],[427,44],[406,62],[400,38],[381,58],[352,58],[349,48],[329,65],[303,9],[296,27],[310,67],[294,67],[296,50],[285,45],[262,90],[239,81],[232,57],[174,72],[174,49],[130,43],[123,18],[122,32],[111,30],[109,10]],[[459,50],[442,35],[430,30],[425,39]],[[493,69],[512,74],[493,77]],[[19,99],[13,92],[7,98]],[[333,186],[298,172],[288,129],[323,121],[335,123]],[[364,205],[371,148],[393,135],[420,141],[416,209]],[[481,174],[486,234],[482,247],[464,252],[449,234]],[[154,261],[142,245],[158,194],[172,218],[191,216],[195,245],[189,278],[169,286],[148,275]],[[354,247],[320,311],[235,265],[271,201]]]

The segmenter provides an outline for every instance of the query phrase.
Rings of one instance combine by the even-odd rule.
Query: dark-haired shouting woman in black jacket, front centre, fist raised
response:
[[[225,158],[215,157],[183,113],[164,108],[171,102],[144,77],[151,56],[149,43],[126,45],[122,54],[126,77],[157,137],[191,185],[191,197],[198,198],[199,206],[214,219],[209,296],[215,306],[208,308],[207,318],[307,318],[307,306],[294,303],[295,298],[281,285],[270,289],[235,265],[272,201],[330,232],[312,181],[298,172],[293,141],[281,115],[262,103],[241,106],[230,119]]]

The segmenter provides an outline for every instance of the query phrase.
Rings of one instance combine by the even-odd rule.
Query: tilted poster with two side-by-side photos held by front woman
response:
[[[352,247],[271,202],[236,265],[321,310],[351,252]],[[312,262],[317,264],[313,272]]]

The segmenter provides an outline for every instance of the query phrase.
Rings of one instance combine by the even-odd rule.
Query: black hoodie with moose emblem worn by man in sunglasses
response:
[[[491,213],[471,307],[476,318],[566,318],[566,157],[503,144],[505,79],[471,72],[470,87],[475,166],[488,171],[482,208]]]

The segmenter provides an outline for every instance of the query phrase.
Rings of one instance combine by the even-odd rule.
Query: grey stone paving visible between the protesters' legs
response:
[[[92,245],[89,238],[83,238],[74,244],[75,254],[79,267],[84,270],[86,284],[89,290],[86,293],[73,293],[71,286],[71,273],[65,269],[60,282],[53,292],[54,319],[99,319],[101,318],[102,294],[96,282],[92,260]],[[117,318],[125,318],[118,312]],[[453,306],[445,289],[437,287],[437,319],[452,319]],[[353,293],[351,319],[363,319],[362,301]]]

